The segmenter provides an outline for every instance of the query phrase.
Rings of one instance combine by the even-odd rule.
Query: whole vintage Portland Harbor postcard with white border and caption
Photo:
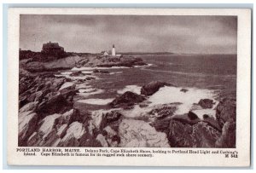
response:
[[[10,165],[249,166],[250,9],[9,9]]]

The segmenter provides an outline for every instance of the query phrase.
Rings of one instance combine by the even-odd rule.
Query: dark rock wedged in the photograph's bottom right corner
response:
[[[216,147],[236,147],[236,123],[226,122],[222,128],[222,135],[216,141]]]

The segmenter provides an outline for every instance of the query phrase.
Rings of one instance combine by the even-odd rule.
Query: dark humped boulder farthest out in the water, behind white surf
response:
[[[164,86],[173,86],[172,84],[168,84],[166,82],[153,81],[149,84],[146,84],[141,89],[141,95],[154,95],[161,87]]]

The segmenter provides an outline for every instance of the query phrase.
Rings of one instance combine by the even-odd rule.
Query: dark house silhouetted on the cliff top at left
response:
[[[44,43],[41,53],[44,55],[52,55],[55,57],[61,57],[65,54],[64,48],[59,43]]]

